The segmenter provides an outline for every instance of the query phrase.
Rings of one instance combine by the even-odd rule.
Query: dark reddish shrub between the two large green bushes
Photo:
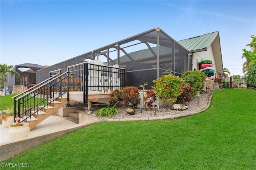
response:
[[[184,89],[182,90],[182,94],[178,96],[176,103],[182,104],[186,101],[192,100],[193,87],[190,84],[182,83]]]

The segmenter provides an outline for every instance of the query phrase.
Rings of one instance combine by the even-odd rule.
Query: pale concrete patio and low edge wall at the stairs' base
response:
[[[10,140],[8,137],[9,128],[0,125],[0,161],[6,160],[24,152],[30,148],[34,148],[44,142],[53,140],[54,138],[64,136],[76,129],[87,127],[92,123],[98,122],[96,117],[82,114],[82,123],[76,124],[72,121],[51,115],[39,125],[33,128],[27,137]]]

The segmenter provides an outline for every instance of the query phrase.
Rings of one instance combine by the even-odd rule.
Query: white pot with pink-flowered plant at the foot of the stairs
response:
[[[8,131],[9,138],[13,140],[28,136],[28,133],[30,132],[30,127],[28,126],[29,123],[20,123],[19,117],[16,117],[15,121],[16,123],[10,125],[10,129]]]

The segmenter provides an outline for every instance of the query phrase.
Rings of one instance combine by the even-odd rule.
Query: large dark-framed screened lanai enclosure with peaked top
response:
[[[125,77],[117,86],[139,87],[148,82],[146,89],[151,89],[152,81],[164,74],[181,76],[185,71],[192,69],[192,55],[188,50],[160,28],[154,28],[41,69],[36,72],[36,83],[48,79],[51,71],[60,69],[64,73],[72,65],[94,63],[93,61],[100,61],[104,65],[97,67],[101,69],[101,74],[109,74],[107,77],[112,77],[113,73],[119,73],[119,77],[115,78]],[[113,72],[112,66],[120,70],[124,69],[125,74],[123,71]],[[96,81],[109,81],[109,79]],[[116,79],[112,78],[109,82],[116,82]]]

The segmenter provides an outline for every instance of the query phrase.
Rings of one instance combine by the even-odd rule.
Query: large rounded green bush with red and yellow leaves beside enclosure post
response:
[[[152,89],[154,89],[156,97],[162,101],[164,107],[171,108],[182,93],[183,87],[180,86],[183,83],[182,78],[172,74],[162,75],[153,80],[153,83]]]

